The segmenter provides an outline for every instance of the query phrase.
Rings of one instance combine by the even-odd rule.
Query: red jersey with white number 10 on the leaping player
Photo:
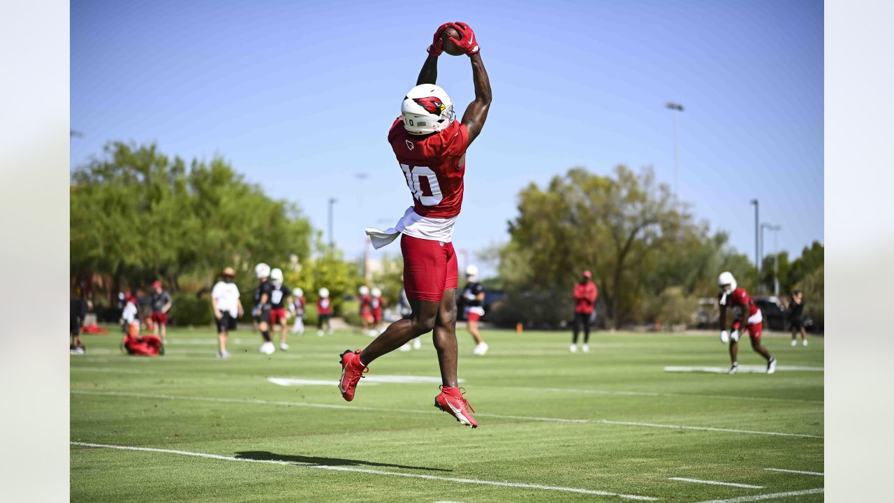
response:
[[[442,132],[420,138],[409,134],[398,117],[388,132],[388,142],[413,193],[413,211],[430,218],[459,215],[468,148],[466,124],[453,121]]]

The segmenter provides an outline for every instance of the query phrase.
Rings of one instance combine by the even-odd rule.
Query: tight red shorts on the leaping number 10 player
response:
[[[401,252],[407,298],[440,303],[444,290],[456,289],[460,271],[453,243],[402,234]]]

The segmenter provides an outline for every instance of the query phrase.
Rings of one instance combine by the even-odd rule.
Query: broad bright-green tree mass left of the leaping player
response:
[[[157,278],[176,292],[183,275],[210,284],[228,265],[244,273],[257,261],[308,257],[308,219],[223,158],[188,168],[155,144],[120,141],[104,152],[72,173],[72,275],[113,277],[109,294]]]

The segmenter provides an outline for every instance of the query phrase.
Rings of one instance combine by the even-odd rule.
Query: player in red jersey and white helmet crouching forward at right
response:
[[[761,332],[763,331],[761,310],[757,309],[745,288],[736,287],[736,278],[730,271],[721,272],[721,276],[717,278],[717,286],[721,289],[721,293],[717,297],[721,306],[721,343],[730,343],[732,367],[727,373],[738,372],[738,337],[739,333],[745,329],[743,327],[745,325],[748,328],[748,338],[751,339],[751,348],[755,350],[755,353],[763,356],[767,361],[767,373],[772,374],[776,371],[776,359],[767,351],[767,348],[761,345]],[[728,332],[726,329],[728,306],[738,307],[740,310],[732,322],[732,332]]]

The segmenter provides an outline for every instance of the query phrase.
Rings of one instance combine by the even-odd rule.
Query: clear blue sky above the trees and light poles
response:
[[[823,239],[822,2],[72,1],[72,166],[106,141],[215,154],[293,200],[335,241],[363,251],[365,226],[411,203],[386,141],[432,32],[476,30],[493,106],[469,149],[454,234],[477,252],[508,240],[527,183],[571,166],[654,166],[680,198],[754,254],[754,212],[798,254]],[[468,58],[443,55],[438,84],[458,115]],[[767,234],[765,251],[772,238]],[[397,245],[375,252],[399,253]]]

